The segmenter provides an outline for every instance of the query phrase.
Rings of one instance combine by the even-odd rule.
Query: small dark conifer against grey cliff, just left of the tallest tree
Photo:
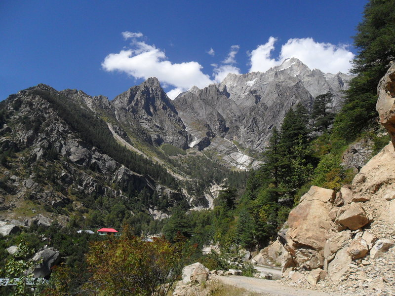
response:
[[[315,130],[318,132],[326,131],[329,125],[332,124],[333,119],[335,118],[335,114],[328,111],[328,104],[330,104],[331,102],[331,93],[319,95],[314,100],[311,118],[314,121]]]

